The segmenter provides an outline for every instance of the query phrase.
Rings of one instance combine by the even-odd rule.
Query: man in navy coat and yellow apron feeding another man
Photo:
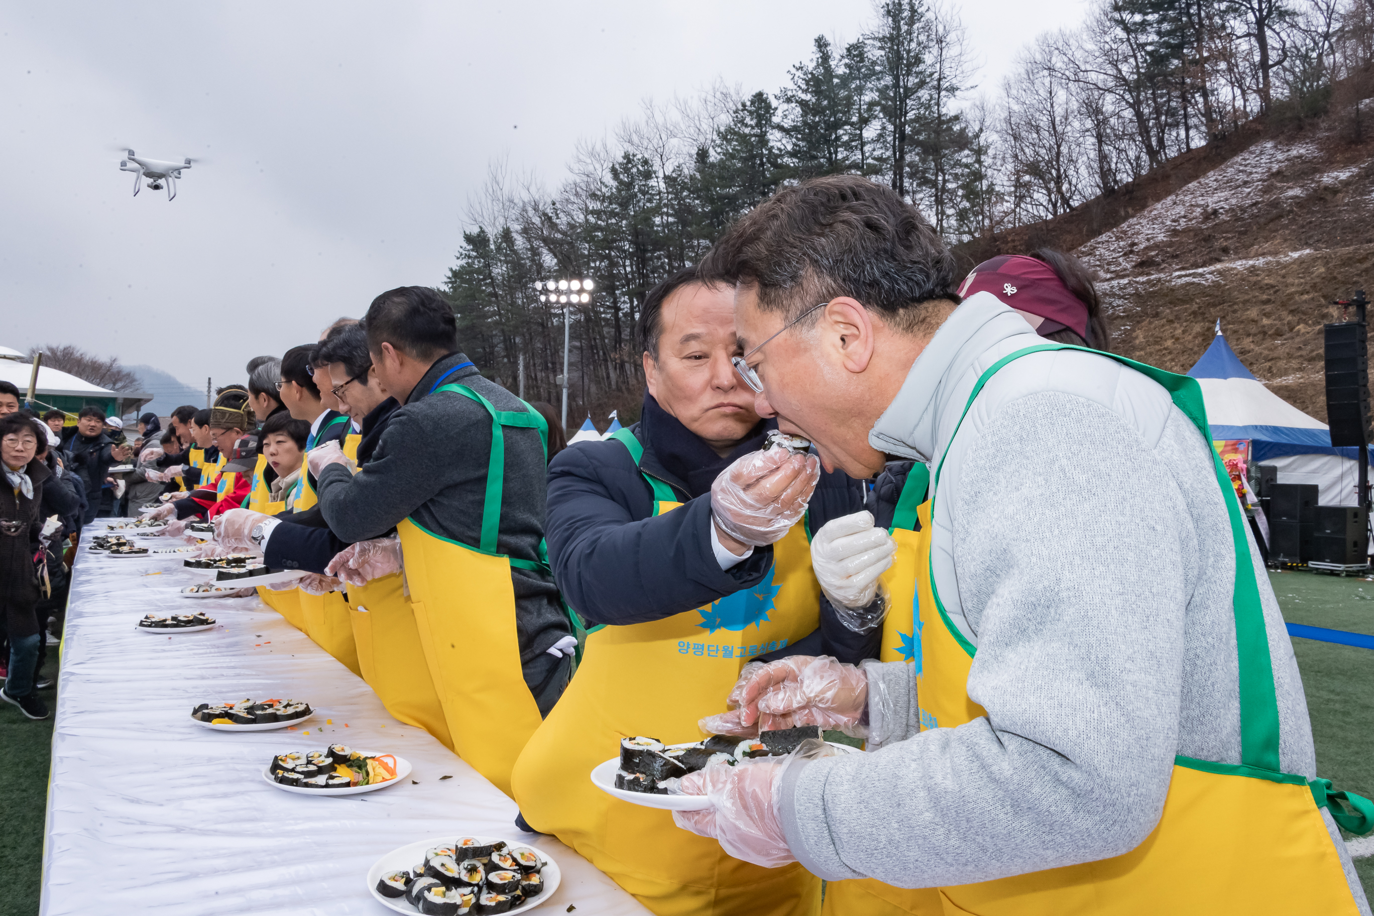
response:
[[[731,365],[732,299],[691,269],[654,287],[638,325],[639,423],[550,466],[550,563],[591,633],[513,788],[529,827],[655,913],[816,913],[820,882],[797,865],[732,860],[587,779],[622,737],[698,742],[698,720],[725,711],[752,661],[877,654],[874,584],[893,544],[861,511],[857,481],[822,474],[807,439],[756,413]]]

